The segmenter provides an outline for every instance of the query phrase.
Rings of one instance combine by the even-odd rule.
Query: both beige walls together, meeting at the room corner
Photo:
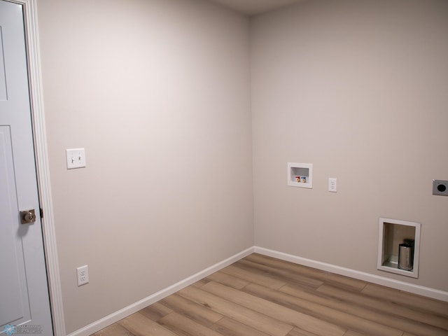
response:
[[[430,195],[448,179],[447,1],[250,21],[205,1],[39,0],[38,20],[67,332],[253,244],[448,290],[448,200]],[[87,168],[67,171],[77,147]],[[287,162],[313,163],[314,188],[286,186]],[[377,271],[381,216],[421,223],[419,279]]]

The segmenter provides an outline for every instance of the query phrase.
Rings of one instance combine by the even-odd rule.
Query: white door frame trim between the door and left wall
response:
[[[45,252],[45,265],[48,277],[48,293],[53,332],[55,336],[65,336],[64,309],[62,306],[61,279],[57,260],[55,221],[52,210],[50,188],[50,169],[45,135],[45,115],[43,111],[43,92],[41,76],[41,57],[38,43],[37,0],[6,0],[22,5],[24,11],[25,41],[27,50],[27,67],[29,83],[29,100],[31,106],[31,123],[36,156],[36,174],[38,197],[43,210],[42,235]]]

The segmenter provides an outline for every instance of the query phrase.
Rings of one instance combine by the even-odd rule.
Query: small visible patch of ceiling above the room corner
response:
[[[238,12],[256,15],[304,0],[211,0]]]

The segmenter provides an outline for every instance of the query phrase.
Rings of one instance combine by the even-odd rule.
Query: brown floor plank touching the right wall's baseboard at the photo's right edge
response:
[[[448,318],[448,302],[433,300],[428,297],[374,285],[373,283],[367,284],[362,290],[362,293],[381,298],[381,300],[386,302],[394,302],[395,304],[402,304],[405,307],[412,307],[412,309],[419,311],[431,311],[433,314]]]

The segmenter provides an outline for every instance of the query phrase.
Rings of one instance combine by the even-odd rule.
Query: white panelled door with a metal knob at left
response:
[[[22,10],[0,0],[0,334],[50,336]]]

